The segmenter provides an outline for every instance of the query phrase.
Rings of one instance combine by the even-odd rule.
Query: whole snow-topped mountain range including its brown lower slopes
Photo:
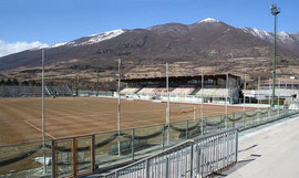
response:
[[[105,77],[115,72],[117,57],[124,59],[124,72],[127,74],[159,75],[162,71],[155,65],[166,62],[174,65],[187,62],[190,64],[188,73],[197,73],[196,69],[199,66],[214,67],[214,72],[246,72],[244,69],[248,69],[248,62],[256,71],[266,72],[271,67],[272,39],[274,34],[270,32],[255,28],[235,28],[208,18],[192,24],[172,22],[146,29],[118,29],[55,43],[45,48],[45,65],[56,71],[69,71],[62,72],[65,76],[74,75],[74,69],[82,70],[82,66],[86,66],[84,70],[89,73],[86,78],[90,81],[94,81],[90,75],[96,69],[95,64],[105,69]],[[101,52],[100,55],[97,52]],[[299,66],[299,33],[279,32],[278,54],[281,64]],[[40,49],[10,54],[0,57],[0,71],[6,71],[7,76],[20,76],[18,72],[39,67],[40,59]],[[106,70],[112,66],[113,70]],[[151,66],[148,72],[142,72],[144,66]],[[184,72],[187,69],[179,64],[177,73],[179,70]],[[247,72],[252,72],[252,69]],[[288,71],[281,73],[287,75]],[[33,74],[28,76],[37,77]]]

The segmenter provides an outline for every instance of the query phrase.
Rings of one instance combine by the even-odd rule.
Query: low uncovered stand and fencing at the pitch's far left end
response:
[[[45,86],[45,96],[72,96],[73,91],[68,85]],[[37,97],[42,95],[42,86],[0,86],[0,97]]]

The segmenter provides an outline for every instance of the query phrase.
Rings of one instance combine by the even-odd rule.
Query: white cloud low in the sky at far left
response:
[[[12,53],[18,53],[24,50],[34,49],[34,48],[45,48],[48,44],[41,43],[39,41],[35,42],[14,42],[14,43],[8,43],[0,40],[0,57],[4,55],[9,55]]]

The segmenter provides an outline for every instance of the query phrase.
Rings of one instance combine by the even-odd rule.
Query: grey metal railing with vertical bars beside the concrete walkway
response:
[[[238,129],[186,140],[162,153],[103,175],[106,178],[207,177],[237,163]]]

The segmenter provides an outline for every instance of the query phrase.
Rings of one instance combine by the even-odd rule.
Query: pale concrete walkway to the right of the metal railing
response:
[[[299,116],[239,138],[238,164],[228,178],[298,178]]]

